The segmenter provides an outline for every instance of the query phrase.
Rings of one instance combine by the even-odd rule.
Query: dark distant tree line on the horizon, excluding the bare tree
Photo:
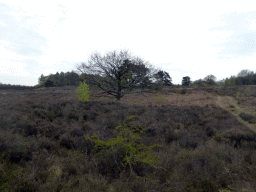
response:
[[[80,66],[81,67],[81,66]],[[163,70],[156,70],[151,78],[147,76],[149,69],[145,67],[145,65],[134,66],[130,71],[132,76],[138,80],[136,83],[137,88],[152,88],[154,86],[171,86],[172,78],[169,73]],[[99,74],[86,74],[82,73],[79,75],[77,72],[61,72],[56,74],[50,74],[49,76],[44,76],[43,74],[39,77],[38,86],[50,86],[50,87],[62,87],[62,86],[79,86],[80,82],[86,81],[89,86],[93,86],[94,83],[90,81],[91,79],[107,79],[106,77],[100,76]],[[47,82],[48,81],[48,82]],[[1,84],[1,83],[0,83]],[[214,75],[208,75],[203,79],[198,79],[195,81],[191,81],[189,76],[185,76],[182,78],[181,82],[182,86],[227,86],[227,85],[256,85],[256,73],[254,74],[249,70],[242,70],[238,73],[237,76],[231,76],[230,78],[222,79],[220,81],[216,81],[216,77]]]

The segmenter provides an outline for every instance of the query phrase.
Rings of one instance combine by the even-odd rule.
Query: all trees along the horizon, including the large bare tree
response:
[[[80,73],[80,75],[79,75]],[[119,53],[112,51],[105,56],[99,53],[91,54],[88,61],[77,66],[77,72],[57,72],[38,79],[35,87],[79,86],[86,82],[90,87],[95,86],[120,100],[127,92],[135,88],[161,89],[162,86],[172,86],[169,73],[154,68],[139,57],[131,56],[127,50]],[[216,86],[216,85],[256,85],[256,74],[242,70],[236,76],[216,81],[214,75],[191,81],[189,76],[182,78],[182,86]]]

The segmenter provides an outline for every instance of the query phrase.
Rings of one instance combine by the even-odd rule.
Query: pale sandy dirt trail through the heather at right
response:
[[[247,121],[244,121],[243,119],[241,119],[241,117],[239,117],[239,114],[241,112],[244,113],[249,113],[251,115],[256,116],[256,112],[252,111],[246,107],[241,107],[239,106],[239,104],[237,103],[237,101],[230,96],[217,96],[216,97],[216,104],[227,110],[228,112],[232,113],[233,115],[235,115],[237,117],[237,119],[243,123],[244,125],[246,125],[247,127],[249,127],[252,131],[256,132],[256,124],[250,124]]]

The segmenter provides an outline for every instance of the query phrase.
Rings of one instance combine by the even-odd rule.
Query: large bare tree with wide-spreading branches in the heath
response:
[[[77,66],[88,83],[96,85],[120,100],[146,78],[152,78],[155,69],[139,57],[132,57],[128,50],[108,52],[105,56],[95,52],[86,63]]]

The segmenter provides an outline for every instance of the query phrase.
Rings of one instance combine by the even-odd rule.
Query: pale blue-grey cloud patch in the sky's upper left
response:
[[[11,7],[0,3],[0,18],[4,24],[0,24],[0,40],[10,43],[5,49],[25,56],[41,55],[42,46],[46,45],[48,40],[35,28],[26,25],[26,21],[33,17],[22,17],[21,21],[17,21],[11,14],[12,11]]]

